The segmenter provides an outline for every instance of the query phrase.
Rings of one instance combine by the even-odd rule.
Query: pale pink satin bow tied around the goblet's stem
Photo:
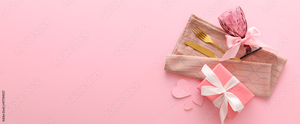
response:
[[[241,45],[252,45],[256,47],[262,47],[265,49],[270,49],[272,52],[278,57],[277,50],[273,47],[268,46],[264,42],[260,41],[259,39],[255,39],[255,37],[260,36],[260,32],[257,28],[251,27],[247,30],[247,34],[245,38],[240,37],[232,37],[230,35],[225,35],[228,51],[223,55],[220,61],[224,61],[230,58],[234,58],[235,55],[238,53],[238,49]]]

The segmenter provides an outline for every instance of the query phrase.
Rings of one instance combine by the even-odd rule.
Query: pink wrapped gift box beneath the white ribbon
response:
[[[229,81],[230,78],[232,78],[232,74],[221,64],[217,64],[212,71],[217,75],[219,78],[222,86]],[[211,83],[209,83],[206,79],[204,79],[197,88],[201,91],[202,86],[213,86]],[[246,106],[247,103],[254,97],[254,95],[241,83],[239,82],[236,86],[232,87],[231,89],[227,90],[227,92],[233,93],[238,99],[241,101],[243,106]],[[206,96],[211,102],[214,102],[221,94],[216,95],[209,95]],[[222,103],[220,103],[222,104]],[[237,111],[233,111],[231,106],[228,103],[228,113],[227,117],[229,117],[231,120],[238,114]]]

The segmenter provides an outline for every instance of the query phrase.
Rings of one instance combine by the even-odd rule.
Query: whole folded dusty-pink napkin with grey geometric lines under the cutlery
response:
[[[244,58],[242,61],[226,60],[223,62],[219,62],[219,58],[221,58],[224,55],[224,53],[217,47],[215,47],[213,44],[201,41],[192,32],[192,30],[196,26],[204,32],[206,32],[215,44],[223,48],[225,51],[228,50],[225,37],[226,32],[222,28],[217,27],[216,25],[211,24],[210,22],[205,21],[204,19],[192,14],[184,28],[184,31],[182,32],[177,41],[172,55],[167,55],[165,65],[166,71],[203,80],[204,77],[202,72],[200,71],[202,69],[202,65],[209,64],[211,61],[213,61],[214,64],[211,64],[211,66],[209,66],[211,67],[211,69],[218,63],[221,63],[223,66],[225,66],[226,69],[231,70],[233,75],[236,78],[238,78],[238,80],[240,80],[241,83],[243,83],[243,85],[246,86],[254,95],[264,98],[269,98],[271,96],[280,77],[280,74],[286,64],[286,58],[283,58],[281,56],[278,56],[277,58],[277,56],[272,52],[269,52],[265,49],[261,49],[258,52],[255,52],[254,54]],[[216,54],[218,58],[208,58],[201,52],[198,52],[197,50],[184,44],[184,42],[186,41],[196,43],[202,47],[211,50]],[[251,47],[257,48],[255,46]],[[238,50],[238,53],[235,57],[241,58],[241,56],[244,54],[245,48],[243,46],[240,46],[240,49]],[[190,59],[190,57],[192,57],[192,59]],[[183,63],[183,61],[180,61],[180,59],[187,58],[189,58],[190,61],[184,61],[184,64],[174,63],[176,61]],[[186,63],[188,63],[187,65],[189,65],[189,69],[182,69],[182,66]],[[191,65],[191,63],[193,64]],[[225,63],[231,64],[225,65]],[[234,65],[232,63],[239,64]],[[174,65],[172,66],[172,64]],[[190,71],[193,70],[192,66],[199,66],[199,68],[197,68],[199,71],[198,76],[195,75],[195,72]]]

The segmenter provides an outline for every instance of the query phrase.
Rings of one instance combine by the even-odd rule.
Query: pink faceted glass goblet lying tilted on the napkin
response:
[[[245,38],[247,33],[247,21],[241,7],[234,7],[218,17],[223,30],[231,36]],[[246,54],[240,59],[253,54],[254,52],[262,49],[261,47],[257,49],[251,48],[249,45],[245,45]]]

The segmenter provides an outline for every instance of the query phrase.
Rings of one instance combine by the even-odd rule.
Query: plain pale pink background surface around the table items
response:
[[[248,27],[260,30],[259,39],[278,48],[288,62],[271,98],[254,97],[225,123],[300,123],[300,84],[292,83],[300,76],[299,1],[121,0],[104,18],[102,13],[113,3],[116,0],[1,0],[0,90],[5,91],[5,123],[220,123],[219,110],[206,97],[202,106],[193,103],[192,109],[184,110],[184,102],[199,94],[200,81],[164,71],[164,62],[191,13],[220,26],[217,17],[235,6],[244,10]],[[44,20],[49,21],[47,26]],[[150,26],[143,29],[144,23]],[[37,33],[36,28],[44,30]],[[139,30],[143,33],[137,37]],[[87,37],[75,48],[73,42],[85,32]],[[26,44],[30,37],[34,39]],[[117,56],[116,51],[131,38],[134,41]],[[17,52],[20,44],[26,47]],[[68,49],[71,52],[65,52]],[[58,56],[64,59],[55,66]],[[95,81],[88,85],[88,79]],[[179,79],[195,82],[192,96],[168,106]],[[140,86],[133,87],[135,83]],[[69,105],[67,100],[74,94],[76,100]],[[277,98],[280,94],[284,96]],[[120,106],[107,117],[105,112],[119,100]],[[206,119],[209,114],[213,115]]]

